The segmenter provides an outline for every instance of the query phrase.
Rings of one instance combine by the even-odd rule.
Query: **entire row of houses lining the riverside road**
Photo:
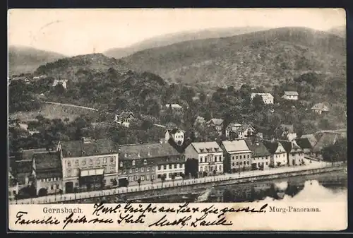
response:
[[[170,141],[174,139],[116,145],[109,138],[83,138],[60,141],[53,148],[13,153],[9,177],[16,186],[11,183],[12,195],[28,187],[34,189],[35,195],[44,196],[105,186],[146,184],[157,179],[295,166],[303,162],[304,153],[311,153],[311,147],[301,148],[297,141],[244,138],[223,141],[220,145],[215,141],[191,143],[183,150]]]

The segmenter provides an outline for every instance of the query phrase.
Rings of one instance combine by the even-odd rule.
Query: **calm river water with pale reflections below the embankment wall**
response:
[[[256,201],[347,201],[347,174],[329,172],[200,189],[189,194],[132,200],[141,203],[232,203]]]

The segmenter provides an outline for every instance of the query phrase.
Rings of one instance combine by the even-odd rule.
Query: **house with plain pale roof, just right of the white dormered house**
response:
[[[225,172],[235,173],[251,170],[251,150],[244,139],[222,141],[225,156]]]

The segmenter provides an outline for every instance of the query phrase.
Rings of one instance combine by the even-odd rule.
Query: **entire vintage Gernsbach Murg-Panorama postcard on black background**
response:
[[[347,228],[342,8],[11,9],[8,229]]]

